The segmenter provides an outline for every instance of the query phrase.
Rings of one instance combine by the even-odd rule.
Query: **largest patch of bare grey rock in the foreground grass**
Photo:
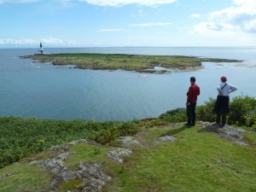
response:
[[[99,163],[80,162],[78,164],[78,171],[67,170],[67,167],[64,166],[64,161],[67,160],[67,157],[69,155],[74,154],[73,152],[68,151],[69,146],[75,145],[77,143],[90,142],[85,139],[80,139],[78,141],[68,143],[67,145],[53,146],[49,148],[49,150],[51,151],[50,155],[52,156],[50,160],[34,160],[30,162],[30,164],[38,164],[40,168],[55,174],[55,177],[53,177],[50,182],[49,192],[55,192],[56,190],[58,190],[60,183],[74,179],[82,179],[82,182],[85,186],[82,191],[98,192],[102,190],[106,183],[111,181],[112,178],[102,171],[102,165]],[[73,189],[70,192],[78,191],[81,190]]]

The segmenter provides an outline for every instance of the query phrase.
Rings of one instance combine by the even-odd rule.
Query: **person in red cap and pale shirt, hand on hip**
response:
[[[221,84],[219,84],[217,87],[218,96],[215,103],[214,111],[215,113],[217,113],[216,123],[221,127],[224,127],[224,125],[226,124],[227,113],[230,113],[230,93],[236,91],[237,88],[236,86],[227,84],[227,78],[225,76],[222,76],[220,80]]]

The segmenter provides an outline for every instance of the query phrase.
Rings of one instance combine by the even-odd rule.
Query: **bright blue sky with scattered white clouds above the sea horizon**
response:
[[[0,48],[256,46],[256,0],[0,0]]]

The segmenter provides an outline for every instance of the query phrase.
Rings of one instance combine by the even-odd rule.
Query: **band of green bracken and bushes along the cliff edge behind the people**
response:
[[[198,106],[197,119],[214,122],[214,104],[215,100],[210,98],[205,105]],[[167,111],[157,119],[127,122],[0,117],[0,168],[52,145],[80,138],[111,144],[117,137],[134,135],[142,129],[183,122],[186,119],[185,108]],[[249,96],[233,98],[228,123],[256,131],[256,99]]]

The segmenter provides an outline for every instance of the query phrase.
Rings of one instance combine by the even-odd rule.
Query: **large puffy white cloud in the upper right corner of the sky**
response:
[[[233,0],[235,6],[208,15],[208,20],[195,26],[195,32],[256,33],[256,1]]]

